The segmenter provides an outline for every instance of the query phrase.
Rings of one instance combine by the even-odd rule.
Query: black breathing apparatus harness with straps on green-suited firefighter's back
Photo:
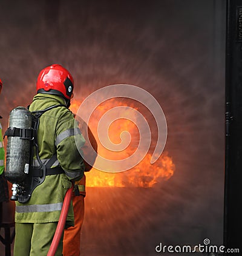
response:
[[[5,132],[4,136],[7,137],[19,137],[22,140],[29,140],[30,141],[30,157],[29,163],[25,163],[24,170],[19,170],[24,172],[21,174],[22,179],[17,179],[15,182],[15,175],[11,173],[11,168],[7,168],[8,164],[8,150],[7,150],[7,157],[6,157],[6,177],[7,179],[13,183],[11,190],[12,196],[11,200],[18,200],[19,203],[26,203],[30,200],[31,194],[34,189],[41,185],[44,182],[45,176],[53,175],[53,174],[61,174],[64,173],[64,170],[60,167],[51,168],[54,162],[57,160],[57,154],[55,153],[50,160],[44,165],[39,157],[39,147],[38,147],[38,128],[39,128],[39,119],[46,111],[52,110],[53,108],[57,107],[65,107],[64,104],[54,105],[44,110],[37,110],[30,112],[27,108],[26,111],[31,113],[32,125],[30,128],[16,128],[16,127],[8,127],[7,131]],[[21,108],[21,107],[19,107]],[[8,145],[7,145],[8,146]],[[33,166],[33,155],[34,149],[36,153],[36,162],[38,162],[38,166]],[[10,148],[11,150],[11,148]],[[21,151],[21,148],[19,148]],[[19,182],[20,180],[20,182]]]

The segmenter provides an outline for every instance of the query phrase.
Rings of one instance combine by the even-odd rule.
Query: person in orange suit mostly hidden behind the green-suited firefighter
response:
[[[90,128],[87,126],[79,116],[76,116],[77,123],[81,133],[83,134],[84,139],[86,140],[85,144],[82,146],[84,163],[85,163],[85,172],[91,170],[94,165],[94,162],[97,157],[97,141],[91,133]],[[88,142],[90,140],[90,144]],[[91,147],[94,151],[90,150]],[[88,156],[88,162],[85,162],[85,156]],[[64,240],[63,240],[63,255],[64,256],[79,256],[80,255],[80,231],[82,229],[83,219],[84,219],[84,198],[86,196],[85,191],[86,177],[85,174],[76,184],[76,188],[73,191],[73,208],[74,208],[74,227],[65,229],[64,231]]]

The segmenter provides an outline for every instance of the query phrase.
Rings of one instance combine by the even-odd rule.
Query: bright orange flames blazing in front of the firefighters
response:
[[[70,109],[73,111],[73,113],[77,113],[80,103],[81,100],[77,99],[73,99],[71,101]],[[139,133],[136,125],[130,120],[125,119],[125,115],[128,116],[129,114],[127,111],[125,111],[125,113],[116,113],[117,115],[120,114],[122,118],[116,120],[115,125],[110,125],[108,136],[113,143],[120,143],[120,137],[117,136],[117,134],[122,133],[124,130],[129,131],[132,140],[128,147],[119,152],[117,157],[117,153],[107,151],[106,148],[99,142],[96,131],[98,120],[107,110],[120,105],[127,106],[128,104],[125,102],[120,102],[120,100],[117,101],[116,99],[110,99],[106,102],[103,102],[96,108],[94,111],[94,117],[91,118],[90,123],[88,123],[92,133],[94,134],[94,137],[97,140],[98,154],[112,160],[125,159],[126,157],[131,156],[139,143],[139,136],[137,136]],[[132,106],[132,108],[135,107]],[[151,156],[152,154],[148,152],[139,164],[124,172],[111,173],[92,168],[90,172],[86,172],[86,185],[89,187],[116,186],[151,188],[157,182],[170,179],[174,174],[175,165],[172,162],[172,158],[168,156],[168,153],[163,153],[157,162],[153,163],[152,165],[150,163]],[[106,170],[108,171],[108,166],[106,166]]]

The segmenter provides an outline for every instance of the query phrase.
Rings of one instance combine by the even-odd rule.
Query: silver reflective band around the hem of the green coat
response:
[[[53,212],[60,211],[63,203],[51,203],[50,205],[17,205],[16,212]]]

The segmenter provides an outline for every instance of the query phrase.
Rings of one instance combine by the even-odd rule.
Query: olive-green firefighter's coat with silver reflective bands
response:
[[[59,104],[65,104],[62,97],[37,94],[30,105],[30,111],[44,110]],[[60,165],[65,174],[46,176],[44,182],[34,189],[27,203],[16,202],[15,222],[59,221],[62,203],[67,189],[71,187],[71,181],[83,177],[85,165],[77,146],[80,148],[84,143],[85,139],[80,134],[70,110],[57,107],[42,114],[38,129],[39,156],[43,163],[47,163],[48,159],[57,153],[57,161],[51,168]],[[67,216],[67,225],[74,225],[72,204]]]

